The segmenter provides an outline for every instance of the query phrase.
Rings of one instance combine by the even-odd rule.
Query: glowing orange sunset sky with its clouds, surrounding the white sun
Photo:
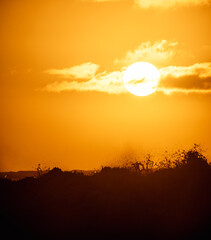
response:
[[[210,24],[210,0],[2,0],[0,171],[211,156]],[[143,61],[160,81],[138,97],[123,75]]]

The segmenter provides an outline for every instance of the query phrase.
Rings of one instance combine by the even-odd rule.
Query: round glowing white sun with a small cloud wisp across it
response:
[[[124,73],[125,88],[136,96],[147,96],[156,91],[160,73],[151,63],[136,62]]]

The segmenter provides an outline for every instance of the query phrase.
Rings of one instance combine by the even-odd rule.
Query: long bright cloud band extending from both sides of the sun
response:
[[[93,64],[94,65],[94,64]],[[60,73],[65,71],[60,71]],[[169,66],[159,70],[161,78],[157,91],[171,93],[211,93],[211,63],[196,63],[190,66]],[[54,74],[52,71],[48,73]],[[86,81],[56,81],[43,90],[62,91],[97,91],[109,94],[127,93],[123,83],[124,70],[102,72]],[[65,76],[67,78],[67,76]],[[73,76],[71,76],[73,79]],[[75,76],[77,79],[77,76]]]

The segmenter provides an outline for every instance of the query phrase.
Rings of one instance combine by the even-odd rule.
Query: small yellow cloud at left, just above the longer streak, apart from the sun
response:
[[[50,69],[46,72],[53,75],[60,75],[64,78],[86,79],[92,78],[97,72],[99,65],[88,62],[81,65],[76,65],[71,68]]]

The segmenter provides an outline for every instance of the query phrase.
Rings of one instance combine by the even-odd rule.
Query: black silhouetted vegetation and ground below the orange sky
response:
[[[148,155],[89,176],[54,168],[36,178],[0,179],[1,234],[209,239],[210,186],[211,166],[197,145],[157,164]]]

